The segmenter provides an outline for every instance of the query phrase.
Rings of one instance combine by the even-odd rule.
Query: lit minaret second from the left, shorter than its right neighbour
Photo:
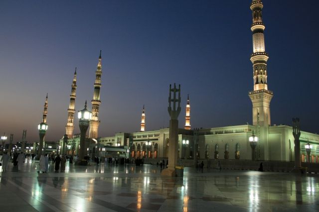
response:
[[[71,86],[70,104],[68,108],[68,122],[65,125],[65,131],[68,138],[72,138],[74,130],[74,113],[75,113],[75,91],[76,91],[76,67],[73,77],[73,82]]]

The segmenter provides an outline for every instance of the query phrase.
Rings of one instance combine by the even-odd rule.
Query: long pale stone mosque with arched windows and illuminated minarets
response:
[[[263,3],[252,0],[251,30],[253,34],[253,53],[250,60],[253,64],[253,90],[248,92],[252,102],[252,125],[224,126],[214,128],[193,128],[190,125],[190,100],[185,106],[185,126],[178,129],[178,157],[180,159],[233,159],[251,160],[252,148],[249,137],[253,134],[259,138],[255,151],[257,160],[294,161],[293,128],[289,125],[271,125],[270,102],[273,92],[268,88],[267,60],[265,51],[264,30],[262,20]],[[147,131],[145,107],[142,109],[140,132],[116,133],[112,137],[99,137],[99,107],[101,75],[101,53],[98,59],[96,79],[92,103],[92,119],[89,125],[89,135],[86,138],[87,154],[90,158],[125,157],[158,160],[167,158],[169,146],[169,128]],[[72,82],[70,104],[68,108],[66,134],[60,139],[63,153],[77,154],[80,136],[74,135],[74,113],[76,99],[76,71]],[[307,161],[306,144],[310,144],[310,162],[319,161],[319,135],[301,131],[301,161]]]

